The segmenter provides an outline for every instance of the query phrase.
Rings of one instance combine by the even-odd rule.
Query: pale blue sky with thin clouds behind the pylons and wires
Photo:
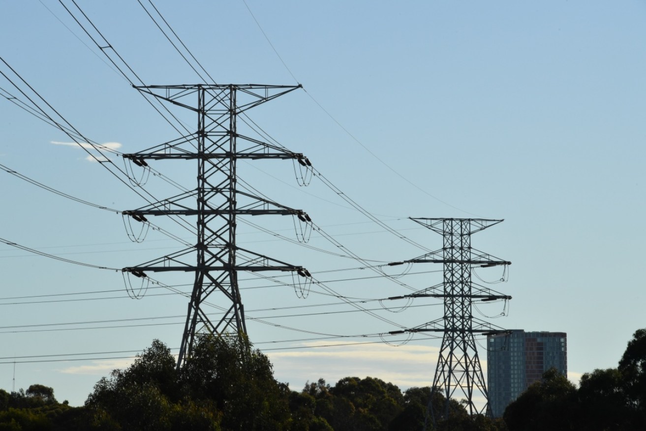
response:
[[[289,70],[242,1],[190,0],[181,8],[171,1],[154,3],[218,83],[294,85],[295,78],[302,83],[307,93],[292,92],[251,111],[251,117],[282,145],[306,154],[320,173],[393,229],[439,249],[441,237],[407,217],[505,218],[472,238],[477,249],[513,262],[509,281],[494,286],[514,298],[508,315],[490,321],[567,332],[573,379],[616,366],[632,333],[644,326],[646,305],[639,251],[646,215],[643,2],[247,0]],[[78,4],[145,83],[198,83],[137,2]],[[3,8],[0,56],[87,138],[136,152],[176,137],[59,3],[6,2]],[[4,65],[0,70],[7,71]],[[0,83],[14,90],[4,78]],[[0,113],[3,165],[107,207],[143,205],[99,163],[85,160],[81,149],[52,143],[69,143],[65,134],[5,99]],[[194,123],[189,113],[178,115]],[[191,162],[154,163],[161,173],[194,187]],[[364,259],[384,263],[423,253],[351,209],[317,178],[298,187],[291,162],[240,163],[239,171],[277,202],[307,211]],[[110,268],[182,248],[156,231],[145,242],[132,243],[121,215],[0,174],[1,238]],[[158,178],[145,187],[160,198],[175,194]],[[287,217],[250,221],[294,236]],[[154,222],[191,242],[189,233],[171,222]],[[375,275],[369,269],[351,269],[364,266],[361,262],[294,246],[242,223],[238,230],[242,246],[306,266],[339,295],[368,301],[408,292],[387,279],[365,279]],[[316,232],[309,244],[339,252]],[[424,273],[399,280],[421,289],[441,280],[441,273],[428,272],[439,269],[415,266],[413,273]],[[186,309],[180,295],[152,286],[142,298],[130,299],[120,273],[10,246],[0,246],[0,271],[3,358],[120,357],[141,351],[154,338],[172,348],[180,344]],[[486,280],[501,275],[498,268],[478,274]],[[156,278],[191,283],[182,275]],[[248,316],[291,328],[247,322],[251,341],[275,364],[276,378],[292,388],[346,375],[371,375],[402,387],[430,384],[439,340],[313,348],[362,339],[311,340],[317,335],[296,330],[361,335],[398,328],[353,311],[317,286],[300,299],[289,286],[254,275],[240,279]],[[381,308],[375,301],[362,306]],[[441,317],[441,310],[437,302],[418,299],[400,313],[375,312],[412,327]],[[502,305],[481,310],[496,317]],[[302,314],[307,315],[295,316]],[[303,341],[275,342],[289,340]],[[289,347],[305,348],[270,350]],[[122,351],[127,353],[98,354]],[[20,363],[27,360],[16,359],[16,388],[47,384],[73,405],[83,403],[101,376],[130,361]],[[11,359],[0,362],[5,362],[0,387],[10,390],[14,365],[7,363]]]

